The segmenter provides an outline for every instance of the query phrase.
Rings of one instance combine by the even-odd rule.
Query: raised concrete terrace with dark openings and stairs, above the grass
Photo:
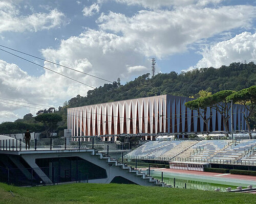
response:
[[[6,141],[7,139],[4,138],[1,143]],[[170,187],[152,176],[99,153],[94,148],[25,150],[24,147],[22,149],[12,148],[12,146],[11,148],[2,147],[0,164],[0,180],[19,186],[79,181]]]

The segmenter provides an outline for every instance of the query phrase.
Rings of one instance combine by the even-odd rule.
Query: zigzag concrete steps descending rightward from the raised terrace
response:
[[[99,153],[97,150],[94,150],[92,152],[92,155],[97,156],[99,159],[105,160],[107,163],[110,163],[116,167],[120,167],[121,169],[126,170],[129,173],[135,174],[136,176],[140,176],[141,179],[153,184],[154,186],[172,188],[172,186],[167,185],[164,182],[159,181],[158,179],[154,179],[154,177],[147,175],[146,173],[141,172],[131,166],[128,166],[127,164],[124,164],[117,159],[111,158],[110,156],[107,156],[104,153]]]

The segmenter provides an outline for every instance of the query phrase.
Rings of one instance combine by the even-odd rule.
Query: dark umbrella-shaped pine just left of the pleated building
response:
[[[62,117],[58,114],[48,113],[37,115],[35,120],[44,124],[46,135],[49,138],[49,134],[53,133],[57,129],[57,123],[62,121]]]

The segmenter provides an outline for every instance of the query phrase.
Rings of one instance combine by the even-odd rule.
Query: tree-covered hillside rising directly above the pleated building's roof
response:
[[[232,63],[218,69],[200,68],[180,74],[171,71],[159,73],[152,79],[149,77],[149,73],[143,74],[121,86],[117,83],[104,84],[103,87],[88,91],[87,96],[71,98],[65,106],[70,108],[162,94],[197,97],[200,90],[212,93],[225,89],[239,91],[256,85],[256,65],[253,62]]]

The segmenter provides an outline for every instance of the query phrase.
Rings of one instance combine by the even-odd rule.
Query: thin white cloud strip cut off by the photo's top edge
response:
[[[224,0],[114,0],[118,3],[123,3],[127,5],[140,5],[144,8],[157,9],[161,7],[179,7],[179,6],[205,6],[208,4],[219,4]]]

